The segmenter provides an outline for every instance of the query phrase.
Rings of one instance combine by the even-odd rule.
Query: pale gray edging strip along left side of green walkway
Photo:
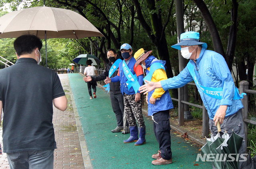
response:
[[[83,157],[83,161],[84,161],[84,168],[85,169],[93,169],[91,159],[90,159],[90,156],[89,156],[89,152],[88,152],[88,149],[87,149],[87,144],[86,144],[86,141],[85,141],[85,138],[84,138],[84,132],[83,132],[83,129],[82,129],[82,125],[81,125],[81,122],[80,122],[80,118],[79,118],[79,115],[78,115],[78,111],[77,111],[77,108],[76,108],[76,103],[75,103],[75,100],[74,100],[74,96],[73,96],[73,93],[72,93],[72,89],[71,89],[69,80],[68,80],[68,87],[69,87],[69,90],[70,90],[72,106],[73,106],[74,115],[75,115],[75,119],[76,119],[76,127],[77,127],[77,131],[78,131],[78,137],[79,137],[80,147],[81,147],[81,151],[82,151],[82,157]]]

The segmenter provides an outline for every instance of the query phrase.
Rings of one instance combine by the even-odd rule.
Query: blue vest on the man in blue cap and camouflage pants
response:
[[[127,65],[128,68],[130,69],[130,71],[132,72],[132,74],[134,74],[134,76],[136,76],[136,74],[133,70],[135,63],[136,63],[136,59],[134,59],[134,57],[132,57],[130,59],[130,62]],[[122,62],[120,64],[122,64]],[[122,65],[119,66],[119,76],[120,76],[120,89],[121,89],[122,94],[124,94],[124,93],[126,93],[128,95],[135,94],[133,87],[131,87],[130,90],[128,89],[128,86],[126,84],[126,81],[128,79],[124,75],[124,70],[123,70]]]

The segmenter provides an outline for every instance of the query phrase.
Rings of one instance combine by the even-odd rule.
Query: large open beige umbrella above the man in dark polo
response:
[[[17,10],[0,17],[0,38],[17,38],[28,33],[40,39],[103,36],[86,18],[62,8],[39,6]]]

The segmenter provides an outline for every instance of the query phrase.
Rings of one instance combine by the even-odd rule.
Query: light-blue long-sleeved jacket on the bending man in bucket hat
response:
[[[204,94],[198,88],[210,119],[213,120],[220,105],[228,105],[225,118],[244,108],[240,99],[233,99],[235,84],[222,55],[202,48],[196,63],[193,60],[189,62],[194,66],[194,72],[200,85],[205,87],[222,87],[223,89],[222,99],[214,99]],[[167,90],[182,87],[191,81],[193,81],[193,78],[186,66],[178,76],[161,81],[161,85],[164,90]]]

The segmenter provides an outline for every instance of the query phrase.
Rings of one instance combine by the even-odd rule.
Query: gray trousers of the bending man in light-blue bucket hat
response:
[[[213,120],[209,120],[209,127],[212,132],[212,134],[215,136],[218,134],[218,129],[217,126],[214,125]],[[241,137],[243,137],[243,143],[239,149],[239,153],[246,153],[246,143],[245,143],[245,134],[244,134],[244,123],[243,123],[243,114],[242,110],[239,110],[237,113],[234,115],[227,117],[224,119],[224,122],[220,125],[222,133],[225,133],[225,130],[229,135],[232,134],[232,130]],[[242,160],[242,158],[240,159]],[[241,167],[242,161],[239,162],[239,166]],[[240,168],[239,167],[239,168]],[[215,167],[213,167],[215,169]]]

